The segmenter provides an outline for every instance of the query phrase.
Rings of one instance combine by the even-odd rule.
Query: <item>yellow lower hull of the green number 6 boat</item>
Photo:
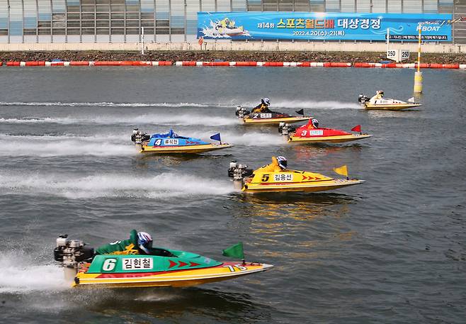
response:
[[[215,267],[183,269],[170,272],[132,272],[118,274],[88,274],[79,272],[74,288],[186,287],[234,279],[271,269],[271,264],[222,262]]]

